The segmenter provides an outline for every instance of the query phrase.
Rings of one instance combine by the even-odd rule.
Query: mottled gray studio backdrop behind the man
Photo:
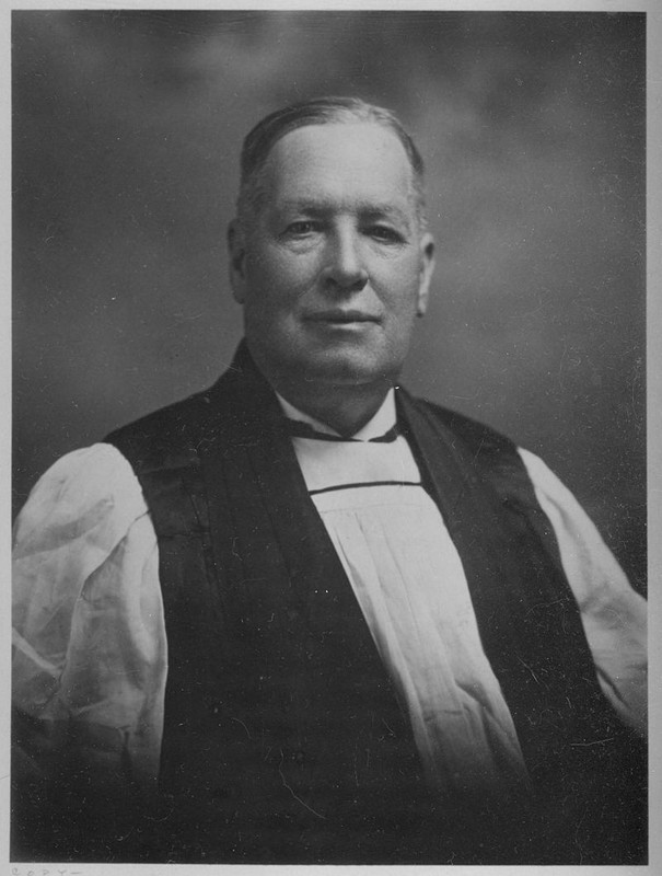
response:
[[[13,13],[14,506],[212,382],[243,136],[314,95],[427,161],[431,312],[403,382],[539,452],[644,567],[643,14]]]

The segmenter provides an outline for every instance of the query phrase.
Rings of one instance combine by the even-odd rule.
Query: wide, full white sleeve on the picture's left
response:
[[[158,546],[119,451],[93,445],[44,474],[15,523],[13,575],[22,769],[47,773],[74,739],[97,773],[130,763],[153,783],[167,654]]]

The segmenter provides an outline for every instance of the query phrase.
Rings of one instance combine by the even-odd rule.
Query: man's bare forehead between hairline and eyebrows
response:
[[[374,123],[307,125],[286,134],[265,164],[271,204],[361,200],[410,206],[414,171],[397,136]]]

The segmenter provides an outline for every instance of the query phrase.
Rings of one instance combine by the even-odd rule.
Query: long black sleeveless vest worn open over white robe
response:
[[[516,449],[403,390],[397,406],[535,798],[469,807],[426,787],[278,402],[242,345],[209,391],[106,439],[150,509],[169,646],[161,805],[138,830],[138,856],[636,863],[634,741],[600,690]]]

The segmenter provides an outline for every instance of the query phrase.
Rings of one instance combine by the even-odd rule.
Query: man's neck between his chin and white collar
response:
[[[344,437],[355,435],[372,419],[392,385],[386,382],[359,387],[270,382],[299,411],[325,423]]]

